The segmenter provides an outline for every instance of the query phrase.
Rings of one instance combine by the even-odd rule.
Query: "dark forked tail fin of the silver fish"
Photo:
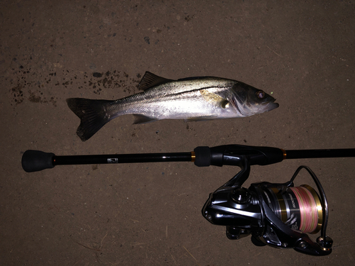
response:
[[[82,141],[97,133],[112,117],[107,114],[106,106],[111,101],[83,98],[67,99],[69,108],[80,118],[77,135]]]

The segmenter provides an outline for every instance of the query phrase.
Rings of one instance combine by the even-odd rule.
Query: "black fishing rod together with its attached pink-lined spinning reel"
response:
[[[235,165],[241,168],[234,177],[209,194],[202,215],[210,223],[226,226],[231,240],[251,235],[254,245],[293,248],[308,255],[329,255],[333,240],[327,233],[328,203],[322,184],[307,166],[300,166],[285,183],[258,182],[246,189],[251,165],[271,165],[286,159],[355,157],[355,149],[283,150],[248,145],[200,146],[190,153],[141,153],[121,155],[65,155],[26,150],[22,167],[37,172],[56,165],[89,165],[133,162],[194,162],[198,167]],[[307,184],[293,182],[305,169],[318,193]],[[314,242],[307,233],[320,236]]]

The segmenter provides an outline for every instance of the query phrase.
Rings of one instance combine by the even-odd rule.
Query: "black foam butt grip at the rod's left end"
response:
[[[37,172],[53,168],[54,153],[44,153],[40,150],[26,150],[22,155],[22,168],[26,172]]]

